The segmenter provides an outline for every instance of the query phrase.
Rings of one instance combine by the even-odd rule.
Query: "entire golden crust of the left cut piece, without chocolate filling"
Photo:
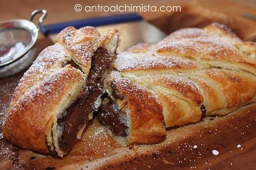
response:
[[[114,55],[117,43],[115,29],[102,36],[93,27],[63,29],[55,45],[45,48],[19,81],[7,111],[4,138],[22,148],[53,151],[62,157],[57,119],[84,91],[93,53],[102,47]]]

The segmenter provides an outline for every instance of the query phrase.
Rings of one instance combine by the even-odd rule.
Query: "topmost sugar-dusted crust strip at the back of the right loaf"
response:
[[[214,34],[212,33],[214,32]],[[224,59],[225,61],[247,61],[247,56],[238,49],[238,38],[216,34],[218,31],[204,31],[186,28],[176,31],[156,44],[157,52],[172,52],[193,55],[195,58]]]

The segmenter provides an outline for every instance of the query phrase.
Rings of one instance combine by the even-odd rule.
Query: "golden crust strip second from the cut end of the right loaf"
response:
[[[196,84],[189,78],[166,74],[141,76],[140,78],[159,97],[163,106],[166,127],[200,121],[203,96]]]

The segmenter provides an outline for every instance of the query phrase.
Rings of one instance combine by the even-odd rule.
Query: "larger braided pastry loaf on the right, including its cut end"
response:
[[[115,115],[129,143],[161,142],[164,128],[255,102],[255,64],[256,43],[218,23],[180,29],[154,45],[137,44],[117,54],[105,81],[111,99],[102,103],[98,119],[118,135],[104,119]]]

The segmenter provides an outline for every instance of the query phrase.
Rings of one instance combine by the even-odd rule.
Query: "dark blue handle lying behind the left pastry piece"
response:
[[[143,18],[137,13],[127,13],[127,14],[119,14],[119,15],[106,16],[106,17],[86,18],[86,19],[70,21],[70,22],[43,25],[41,27],[41,32],[45,35],[48,35],[48,34],[58,33],[62,29],[68,26],[73,26],[76,29],[79,29],[85,26],[97,27],[97,26],[104,26],[106,24],[141,21],[142,19]]]

